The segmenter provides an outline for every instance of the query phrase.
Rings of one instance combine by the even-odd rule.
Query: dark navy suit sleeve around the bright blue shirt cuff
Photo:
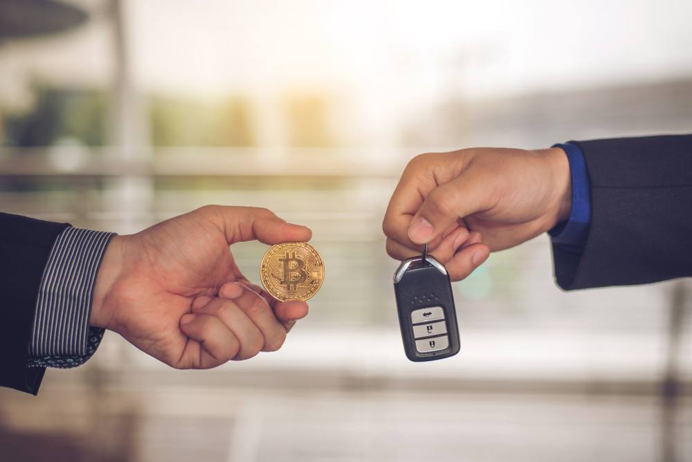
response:
[[[692,276],[692,136],[570,145],[583,154],[591,216],[578,251],[554,241],[558,285],[570,290]]]

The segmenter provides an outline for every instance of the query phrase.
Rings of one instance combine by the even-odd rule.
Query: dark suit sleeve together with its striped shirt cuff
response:
[[[46,367],[77,367],[98,348],[89,327],[111,232],[0,214],[0,386],[37,394]]]

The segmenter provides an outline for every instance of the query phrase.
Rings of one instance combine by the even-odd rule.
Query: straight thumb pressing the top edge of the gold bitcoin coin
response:
[[[260,241],[265,244],[309,241],[312,231],[307,226],[295,225],[280,219],[271,210],[259,207],[216,206],[229,244],[239,241]]]

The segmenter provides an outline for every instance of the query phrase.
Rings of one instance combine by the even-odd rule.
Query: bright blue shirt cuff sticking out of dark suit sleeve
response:
[[[572,178],[572,211],[565,223],[558,224],[548,234],[553,244],[575,252],[582,252],[591,225],[590,181],[584,154],[579,146],[572,142],[554,145],[567,154]]]

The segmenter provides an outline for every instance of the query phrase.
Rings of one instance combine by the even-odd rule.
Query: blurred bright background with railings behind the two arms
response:
[[[692,461],[689,281],[563,293],[543,236],[403,355],[381,217],[415,154],[692,131],[692,3],[0,0],[0,210],[136,232],[208,203],[314,231],[277,353],[175,371],[107,333],[3,461]],[[258,280],[264,246],[233,246]]]

